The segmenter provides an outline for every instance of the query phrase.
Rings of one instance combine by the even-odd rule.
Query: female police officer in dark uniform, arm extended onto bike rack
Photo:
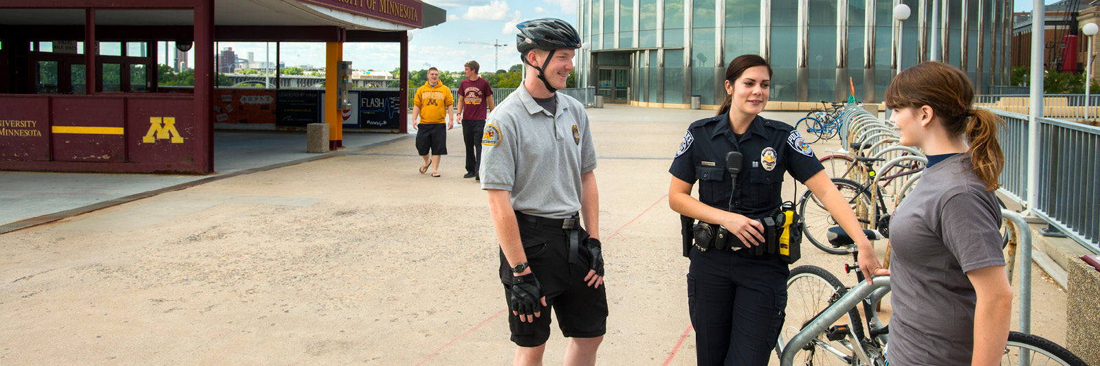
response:
[[[688,308],[698,365],[768,364],[783,325],[790,274],[768,240],[779,224],[773,219],[784,173],[812,190],[849,235],[870,245],[810,144],[790,125],[758,115],[770,84],[771,67],[762,57],[730,62],[718,114],[688,127],[669,168],[669,206],[711,225],[715,237],[696,236],[689,255]],[[696,179],[698,199],[691,196]],[[873,253],[866,257],[875,260],[867,262],[870,268],[880,267]]]

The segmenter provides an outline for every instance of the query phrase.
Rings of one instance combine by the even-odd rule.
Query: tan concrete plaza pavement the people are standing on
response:
[[[587,111],[610,306],[598,363],[693,365],[667,170],[714,112]],[[508,364],[498,246],[461,134],[441,178],[400,138],[0,234],[0,364]],[[799,265],[850,285],[847,260],[804,243]],[[1033,278],[1032,331],[1065,344],[1066,295]],[[564,346],[554,328],[547,363]]]

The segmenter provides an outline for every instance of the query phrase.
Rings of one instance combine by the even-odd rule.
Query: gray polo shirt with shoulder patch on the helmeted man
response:
[[[581,175],[596,168],[584,106],[554,93],[558,110],[540,107],[520,85],[496,106],[482,137],[482,189],[509,191],[522,213],[566,219],[581,210]]]

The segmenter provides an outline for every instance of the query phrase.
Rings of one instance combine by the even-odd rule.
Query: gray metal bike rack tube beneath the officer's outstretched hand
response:
[[[818,334],[824,333],[825,330],[833,325],[833,322],[847,314],[848,310],[858,306],[860,301],[864,301],[864,299],[871,295],[871,292],[876,289],[889,286],[890,276],[879,276],[872,278],[870,282],[865,280],[859,282],[859,285],[856,285],[856,287],[853,287],[847,293],[842,296],[839,300],[836,300],[836,302],[829,306],[828,309],[825,309],[825,311],[818,314],[817,318],[811,321],[810,324],[803,326],[802,330],[799,331],[799,334],[791,337],[790,342],[779,345],[783,350],[783,353],[779,358],[779,364],[783,366],[792,365],[794,363],[794,354],[798,353],[799,350],[802,350],[802,346],[789,347],[787,345],[810,343],[811,340]],[[858,344],[855,345],[855,348],[862,350]],[[857,351],[856,353],[860,355],[862,354],[861,351]],[[864,355],[864,357],[866,357],[866,355]],[[867,359],[864,359],[864,362],[870,364]]]

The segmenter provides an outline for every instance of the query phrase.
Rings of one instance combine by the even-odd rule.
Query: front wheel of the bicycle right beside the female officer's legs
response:
[[[792,269],[791,275],[787,277],[787,318],[783,321],[783,329],[779,332],[779,342],[776,343],[777,355],[782,358],[782,347],[798,346],[801,350],[794,356],[795,365],[849,365],[840,354],[829,352],[832,348],[845,356],[851,356],[853,351],[849,345],[829,341],[824,332],[817,334],[809,344],[788,344],[802,331],[802,328],[846,291],[840,280],[824,268],[799,266]],[[862,334],[862,324],[856,309],[848,311],[847,319],[842,318],[837,324],[846,322],[857,331],[856,334]],[[858,345],[858,342],[856,344]]]

